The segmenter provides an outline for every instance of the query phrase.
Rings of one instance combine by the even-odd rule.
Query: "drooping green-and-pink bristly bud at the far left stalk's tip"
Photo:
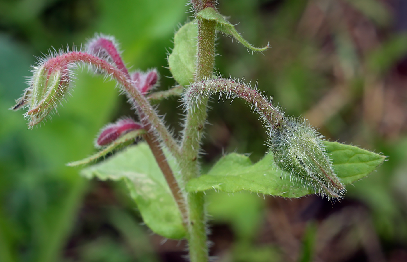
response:
[[[16,100],[14,110],[28,107],[24,114],[30,119],[29,127],[41,122],[63,99],[69,88],[70,68],[68,63],[46,62],[33,67],[33,76],[24,95]]]

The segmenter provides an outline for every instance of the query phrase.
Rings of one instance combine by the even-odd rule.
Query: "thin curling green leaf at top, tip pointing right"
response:
[[[207,7],[204,10],[197,13],[197,19],[199,20],[211,20],[217,22],[216,29],[221,31],[225,34],[232,35],[237,41],[239,41],[243,46],[249,48],[252,51],[262,52],[269,48],[269,44],[267,46],[258,48],[254,47],[249,42],[247,42],[241,35],[236,31],[233,24],[230,24],[225,18],[215,9],[212,7]]]

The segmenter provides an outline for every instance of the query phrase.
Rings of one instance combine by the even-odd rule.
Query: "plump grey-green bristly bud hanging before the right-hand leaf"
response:
[[[344,193],[319,135],[308,124],[289,122],[276,129],[271,144],[274,161],[290,179],[311,185],[328,197],[339,198]]]

